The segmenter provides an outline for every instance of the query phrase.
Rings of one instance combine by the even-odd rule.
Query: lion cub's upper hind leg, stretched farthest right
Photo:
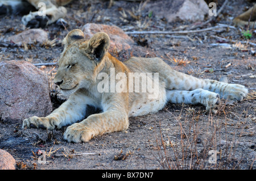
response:
[[[248,93],[245,86],[196,78],[192,75],[173,70],[159,58],[153,60],[157,61],[158,69],[155,71],[159,72],[159,77],[165,81],[167,90],[192,91],[204,89],[219,94],[220,98],[238,101],[243,100]]]

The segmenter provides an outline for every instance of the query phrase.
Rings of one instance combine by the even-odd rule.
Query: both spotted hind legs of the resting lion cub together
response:
[[[216,113],[220,98],[241,101],[248,93],[245,86],[238,84],[200,79],[171,68],[164,69],[163,72],[167,99],[172,103],[200,103],[208,111]]]

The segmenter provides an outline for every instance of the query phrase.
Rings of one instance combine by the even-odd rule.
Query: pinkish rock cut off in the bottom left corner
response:
[[[15,159],[5,150],[0,149],[0,170],[15,170]]]

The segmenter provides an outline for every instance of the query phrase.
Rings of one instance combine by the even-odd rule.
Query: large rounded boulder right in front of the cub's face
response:
[[[52,111],[47,75],[26,61],[0,62],[0,117],[18,122]]]

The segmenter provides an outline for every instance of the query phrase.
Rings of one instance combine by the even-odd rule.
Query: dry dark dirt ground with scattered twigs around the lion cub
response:
[[[217,8],[222,2],[219,1]],[[63,49],[59,42],[67,31],[90,22],[114,24],[124,31],[179,31],[191,26],[189,22],[167,23],[164,18],[156,17],[152,9],[152,13],[141,12],[139,22],[143,24],[146,20],[148,26],[140,28],[133,18],[128,22],[119,18],[119,12],[131,10],[132,7],[137,9],[139,2],[116,1],[112,7],[108,8],[108,5],[108,1],[74,1],[67,6],[67,30],[56,24],[44,28],[49,32],[50,40],[57,38],[56,45],[36,44],[26,48],[0,44],[0,61],[52,62]],[[229,1],[222,14],[203,28],[216,23],[233,26],[232,17],[241,14],[250,5],[247,1]],[[20,15],[3,16],[0,22],[1,37],[23,31],[21,18]],[[52,132],[23,130],[21,122],[1,122],[0,149],[13,155],[17,169],[255,169],[256,58],[250,53],[255,46],[214,46],[220,43],[214,36],[237,42],[246,41],[239,28],[187,35],[133,35],[131,37],[137,42],[138,48],[131,52],[118,52],[114,56],[121,61],[131,55],[157,56],[175,70],[195,77],[220,79],[225,76],[230,83],[249,87],[249,96],[242,102],[223,100],[217,115],[205,112],[200,105],[169,103],[158,113],[130,117],[130,127],[125,132],[104,134],[81,144],[68,143],[63,139],[66,128]],[[256,43],[255,33],[249,41]],[[53,77],[56,72],[53,68],[42,70]],[[50,89],[54,91],[55,86]],[[57,100],[53,98],[55,106],[61,103],[61,100]],[[210,162],[214,158],[210,150],[216,153],[216,163]],[[39,163],[43,151],[46,151],[46,162]]]

